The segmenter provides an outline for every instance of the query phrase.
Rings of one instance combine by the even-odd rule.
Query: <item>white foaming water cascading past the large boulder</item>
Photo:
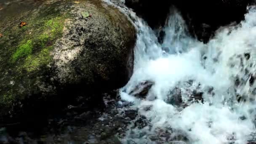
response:
[[[245,20],[237,26],[221,27],[207,44],[189,36],[174,8],[163,28],[163,43],[158,43],[156,32],[135,13],[130,16],[138,30],[135,65],[120,95],[148,123],[143,127],[132,124],[123,143],[254,141],[256,8],[248,8]],[[143,81],[153,83],[147,96],[130,94]]]

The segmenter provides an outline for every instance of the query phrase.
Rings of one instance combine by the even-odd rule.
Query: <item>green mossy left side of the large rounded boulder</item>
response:
[[[71,6],[69,0],[42,2],[40,7],[1,19],[0,121],[23,113],[28,100],[41,101],[55,95],[48,65],[53,59],[54,44],[62,37],[65,20],[72,18]],[[21,21],[27,25],[19,27]]]

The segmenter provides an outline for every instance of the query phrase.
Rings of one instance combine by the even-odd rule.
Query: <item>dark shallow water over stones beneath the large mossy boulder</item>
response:
[[[107,94],[106,94],[107,96]],[[108,99],[108,101],[119,101],[119,98],[104,98]],[[77,107],[77,106],[73,106]],[[133,114],[137,115],[137,111],[123,112],[120,114],[118,110],[123,111],[124,109],[117,108],[115,104],[107,105],[104,109],[99,111],[99,108],[94,108],[90,113],[90,115],[86,115],[83,119],[77,119],[75,117],[81,117],[80,113],[77,112],[65,119],[65,117],[56,116],[59,119],[51,120],[57,121],[56,124],[49,124],[44,131],[40,131],[40,133],[35,132],[35,128],[32,131],[21,132],[19,136],[16,138],[16,135],[8,138],[8,135],[5,133],[5,129],[0,129],[0,143],[2,141],[11,140],[18,142],[19,140],[23,140],[24,143],[29,144],[122,144],[120,138],[125,136],[125,132],[127,131],[127,126],[131,124],[133,120],[130,118],[126,119],[128,115],[129,117],[134,117]],[[77,109],[73,109],[76,111]],[[126,115],[127,114],[127,115]],[[136,116],[137,117],[137,116]],[[65,119],[65,120],[64,120]],[[27,125],[30,126],[30,125]],[[16,133],[17,130],[14,130]],[[31,133],[32,132],[32,133]],[[39,134],[39,136],[38,136]],[[3,137],[2,137],[3,135]],[[30,140],[29,140],[30,139]]]

